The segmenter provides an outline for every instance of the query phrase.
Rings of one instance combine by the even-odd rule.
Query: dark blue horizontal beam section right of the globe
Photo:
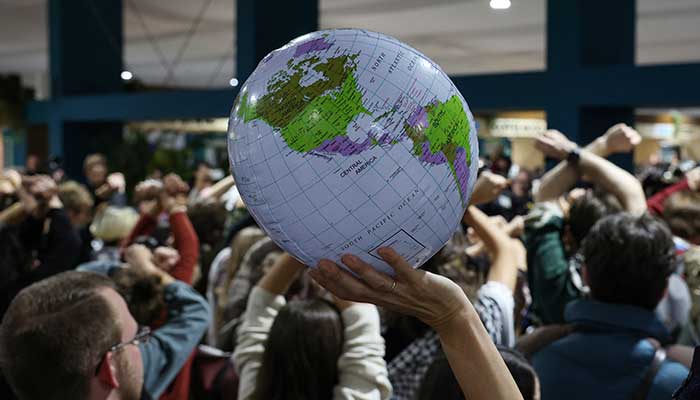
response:
[[[700,63],[452,77],[477,110],[700,105]]]

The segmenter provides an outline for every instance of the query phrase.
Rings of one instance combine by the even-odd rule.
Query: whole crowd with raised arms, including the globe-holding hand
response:
[[[422,268],[379,249],[391,276],[301,264],[206,164],[32,157],[0,174],[0,397],[700,398],[700,167],[607,160],[640,140],[547,131],[543,174],[484,158]]]

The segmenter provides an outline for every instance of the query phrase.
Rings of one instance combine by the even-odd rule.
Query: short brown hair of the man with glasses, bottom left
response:
[[[105,288],[113,288],[105,276],[68,271],[15,297],[0,325],[0,369],[18,397],[88,396],[97,364],[121,337]]]

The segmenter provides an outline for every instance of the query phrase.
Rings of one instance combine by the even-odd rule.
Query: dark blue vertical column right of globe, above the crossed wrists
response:
[[[549,96],[547,123],[579,144],[592,141],[614,123],[634,123],[629,97],[623,106],[594,102],[596,107],[590,108],[581,104],[594,101],[598,94],[605,97],[611,91],[627,90],[615,85],[617,79],[610,81],[599,75],[610,71],[607,67],[620,67],[621,72],[634,68],[636,6],[636,0],[547,1],[548,83],[553,85],[550,89],[560,90]],[[632,169],[631,155],[616,161]]]

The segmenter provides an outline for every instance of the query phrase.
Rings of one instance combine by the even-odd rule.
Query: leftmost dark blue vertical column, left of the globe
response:
[[[54,101],[62,103],[62,99],[72,96],[121,91],[122,0],[49,0],[48,11]],[[65,118],[62,109],[55,105],[38,106],[48,111],[44,113],[43,122],[49,126],[49,151],[63,156],[66,172],[80,176],[86,154],[118,143],[124,119],[94,122]]]

